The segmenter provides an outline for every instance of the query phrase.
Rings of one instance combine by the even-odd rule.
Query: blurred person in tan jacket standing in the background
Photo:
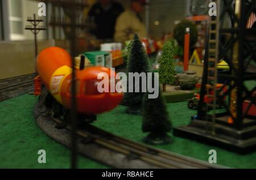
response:
[[[147,36],[146,27],[139,15],[143,11],[144,5],[146,5],[144,0],[131,0],[130,8],[119,15],[115,24],[115,42],[131,40],[135,32],[140,37]]]

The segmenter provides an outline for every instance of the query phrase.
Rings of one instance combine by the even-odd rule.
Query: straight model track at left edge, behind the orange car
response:
[[[0,80],[0,101],[13,98],[34,89],[35,74]]]

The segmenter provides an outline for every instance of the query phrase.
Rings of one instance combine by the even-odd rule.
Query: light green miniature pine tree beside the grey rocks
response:
[[[159,82],[163,84],[163,92],[166,92],[166,84],[172,84],[175,81],[174,46],[171,41],[164,43],[159,63]]]

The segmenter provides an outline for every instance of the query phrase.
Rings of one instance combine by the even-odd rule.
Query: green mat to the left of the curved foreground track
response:
[[[37,98],[23,95],[0,102],[0,168],[69,168],[68,148],[49,138],[36,125]],[[38,163],[39,149],[46,150],[46,164]],[[79,156],[79,168],[108,168]]]

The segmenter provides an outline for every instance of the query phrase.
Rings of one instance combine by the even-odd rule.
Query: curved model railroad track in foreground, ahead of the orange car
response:
[[[68,130],[71,130],[71,126],[67,123],[63,123],[59,119],[53,118],[53,121],[57,125],[64,126]],[[131,159],[140,159],[144,162],[157,166],[159,168],[200,168],[200,169],[213,169],[213,168],[226,168],[224,166],[209,164],[195,158],[177,155],[172,152],[164,151],[150,147],[148,145],[133,142],[129,139],[125,139],[107,131],[101,130],[90,124],[86,127],[77,130],[77,135],[84,139],[86,143],[96,143],[104,148],[108,148],[112,151],[116,151],[127,155]]]

